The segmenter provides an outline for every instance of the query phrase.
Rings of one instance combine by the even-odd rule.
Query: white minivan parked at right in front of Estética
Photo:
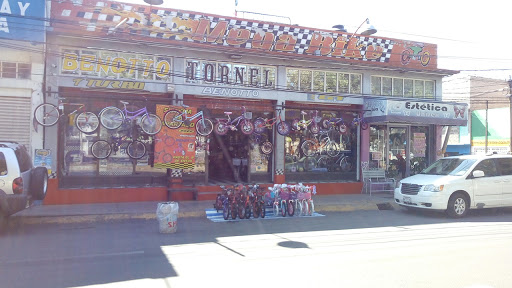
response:
[[[439,159],[402,179],[394,198],[406,208],[441,210],[452,217],[463,217],[469,209],[512,206],[512,155]]]

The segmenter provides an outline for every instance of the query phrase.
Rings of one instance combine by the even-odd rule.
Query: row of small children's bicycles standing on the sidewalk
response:
[[[274,216],[312,216],[315,205],[312,195],[316,186],[275,184],[264,189],[260,185],[236,184],[220,186],[222,193],[217,195],[213,207],[222,210],[224,220],[265,218],[266,208],[272,207]]]

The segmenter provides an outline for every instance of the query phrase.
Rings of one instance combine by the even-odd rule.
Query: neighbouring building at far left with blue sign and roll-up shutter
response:
[[[32,112],[43,101],[45,1],[3,1],[0,12],[0,139],[34,157],[43,134]],[[28,28],[30,27],[30,28]]]

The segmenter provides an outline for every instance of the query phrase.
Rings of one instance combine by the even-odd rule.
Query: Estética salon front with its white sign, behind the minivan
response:
[[[365,100],[370,127],[362,153],[367,153],[367,168],[385,170],[396,180],[421,172],[442,156],[438,127],[467,125],[467,113],[461,113],[466,109],[457,103]]]

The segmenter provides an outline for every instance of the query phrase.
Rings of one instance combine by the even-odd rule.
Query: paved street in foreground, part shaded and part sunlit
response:
[[[510,287],[512,212],[404,210],[213,223],[24,225],[0,236],[1,287]]]

